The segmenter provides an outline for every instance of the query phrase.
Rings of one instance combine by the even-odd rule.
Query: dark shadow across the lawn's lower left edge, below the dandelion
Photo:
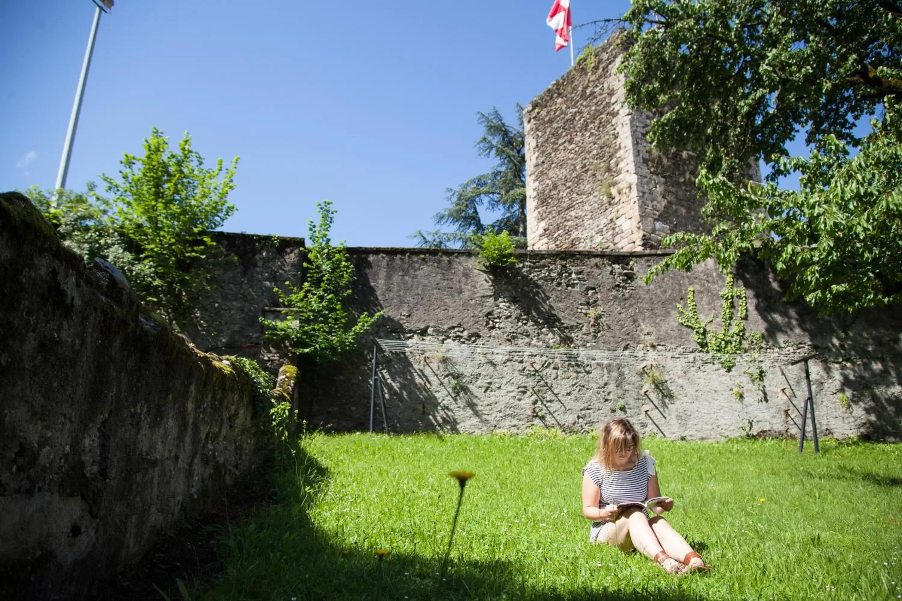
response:
[[[510,561],[462,560],[454,552],[441,578],[441,553],[434,549],[423,554],[386,549],[389,553],[379,557],[375,549],[331,540],[308,514],[325,490],[328,470],[302,449],[282,467],[286,478],[281,480],[281,503],[254,514],[241,528],[223,530],[219,543],[223,572],[206,592],[193,597],[196,601],[695,598],[663,585],[629,592],[541,588],[534,575]],[[347,492],[353,496],[353,491]],[[345,510],[349,523],[359,519],[353,504]]]

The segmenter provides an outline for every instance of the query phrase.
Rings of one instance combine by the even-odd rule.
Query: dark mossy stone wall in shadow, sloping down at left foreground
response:
[[[260,464],[254,412],[247,378],[0,195],[0,598],[82,598],[140,559]]]

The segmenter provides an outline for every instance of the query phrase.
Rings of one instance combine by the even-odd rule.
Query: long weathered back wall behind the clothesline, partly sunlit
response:
[[[361,352],[301,375],[306,415],[318,426],[369,427],[373,338],[382,338],[446,344],[441,351],[417,354],[380,351],[391,432],[520,432],[531,426],[583,432],[612,415],[626,415],[643,433],[668,438],[795,436],[805,372],[789,361],[816,352],[811,372],[822,435],[897,439],[902,434],[898,307],[819,319],[805,306],[785,302],[767,269],[743,265],[737,286],[748,289],[747,326],[764,333],[767,346],[760,356],[767,375],[757,384],[743,373],[753,367],[750,363],[726,373],[697,355],[694,360],[676,356],[696,350],[691,332],[676,323],[676,304],[685,301],[686,288],[695,287],[703,317],[720,312],[724,280],[711,264],[690,274],[669,273],[645,286],[641,275],[666,251],[525,251],[517,269],[499,276],[476,269],[467,251],[350,252],[357,269],[355,310],[386,314]],[[253,274],[285,265],[272,255],[244,262],[249,269],[231,263],[231,270],[218,277],[263,296],[266,286]],[[262,341],[259,324],[255,332],[246,327],[259,320],[260,305],[229,303],[219,296],[206,305],[215,304],[221,323],[240,324],[234,332],[221,330],[219,343],[250,344],[245,352],[271,369],[289,359]],[[460,347],[485,352],[463,356]],[[516,351],[494,347],[644,354],[619,362],[573,363],[556,359],[553,352],[524,360]],[[652,367],[655,377],[649,376]],[[848,396],[848,406],[841,394]],[[375,418],[381,429],[378,406]]]

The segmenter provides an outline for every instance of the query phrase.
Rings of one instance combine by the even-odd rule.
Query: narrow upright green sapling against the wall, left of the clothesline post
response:
[[[347,258],[344,242],[335,246],[329,230],[335,221],[330,201],[318,204],[319,223],[309,223],[309,245],[304,261],[304,281],[300,287],[285,282],[289,292],[275,288],[286,309],[281,320],[261,318],[266,337],[288,343],[299,359],[325,363],[353,351],[357,339],[382,315],[361,314],[356,319],[347,311],[352,294],[354,266]]]

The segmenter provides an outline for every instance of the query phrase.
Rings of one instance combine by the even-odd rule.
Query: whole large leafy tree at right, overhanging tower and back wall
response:
[[[902,5],[889,0],[636,0],[624,20],[630,103],[649,139],[695,150],[710,235],[646,276],[741,253],[769,260],[822,313],[902,300]],[[856,123],[867,115],[870,132]],[[811,155],[792,157],[801,132]],[[737,185],[752,161],[764,186]],[[800,190],[781,189],[796,174]]]

